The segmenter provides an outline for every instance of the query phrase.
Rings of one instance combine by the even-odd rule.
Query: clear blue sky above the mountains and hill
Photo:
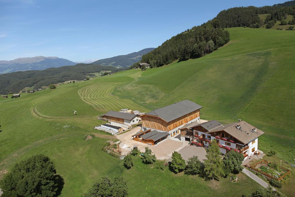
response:
[[[223,9],[283,2],[0,0],[0,60],[124,55],[157,47]]]

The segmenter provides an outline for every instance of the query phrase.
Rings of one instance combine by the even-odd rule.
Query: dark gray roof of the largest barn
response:
[[[168,105],[162,107],[160,109],[155,109],[146,113],[147,115],[159,116],[163,120],[170,122],[175,120],[181,116],[191,113],[192,111],[196,111],[197,109],[201,109],[202,106],[196,104],[193,101],[184,100],[178,103],[174,103],[172,105]]]

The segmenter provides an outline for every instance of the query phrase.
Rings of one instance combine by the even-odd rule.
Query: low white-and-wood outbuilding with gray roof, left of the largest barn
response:
[[[107,119],[113,125],[126,128],[131,127],[132,124],[137,124],[140,122],[140,118],[138,115],[118,111],[109,111],[104,114],[102,118]]]

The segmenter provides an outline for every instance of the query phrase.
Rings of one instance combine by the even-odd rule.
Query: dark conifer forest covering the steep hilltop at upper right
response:
[[[265,21],[262,21],[258,14],[269,15]],[[143,55],[140,62],[149,63],[153,68],[172,63],[175,60],[199,58],[217,50],[230,40],[229,33],[223,28],[258,28],[263,24],[266,24],[266,28],[270,28],[274,21],[282,20],[289,14],[295,15],[295,1],[287,1],[273,6],[235,7],[222,10],[214,19],[187,29],[165,41],[155,50]],[[292,24],[292,21],[289,24]],[[138,63],[130,68],[134,67],[138,67]]]

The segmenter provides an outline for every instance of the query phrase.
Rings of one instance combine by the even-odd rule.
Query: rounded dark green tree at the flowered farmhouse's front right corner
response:
[[[227,152],[223,157],[224,173],[227,176],[230,172],[239,173],[243,170],[242,162],[244,157],[241,153],[231,150]]]

